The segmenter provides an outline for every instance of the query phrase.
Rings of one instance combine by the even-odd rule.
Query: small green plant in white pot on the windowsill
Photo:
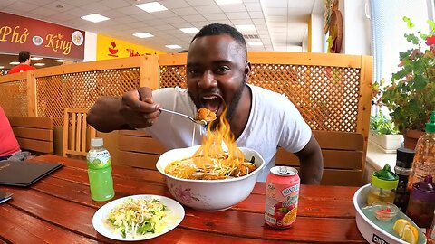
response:
[[[382,112],[370,117],[369,141],[384,153],[395,153],[401,147],[403,135],[398,133],[391,119]]]

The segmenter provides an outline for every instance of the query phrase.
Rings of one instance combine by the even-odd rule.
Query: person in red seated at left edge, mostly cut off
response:
[[[20,145],[14,136],[11,124],[0,106],[0,161],[6,160],[21,152]]]

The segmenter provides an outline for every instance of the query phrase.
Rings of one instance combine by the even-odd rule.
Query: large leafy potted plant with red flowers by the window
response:
[[[403,21],[412,29],[414,24],[407,17]],[[382,87],[382,82],[373,83],[374,97],[380,105],[391,111],[391,120],[405,136],[405,147],[414,149],[414,142],[423,135],[425,123],[435,109],[435,23],[428,20],[429,34],[405,33],[412,47],[400,52],[399,71],[392,74],[391,84]]]

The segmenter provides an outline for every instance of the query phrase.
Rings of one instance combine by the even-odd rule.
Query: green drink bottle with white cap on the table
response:
[[[111,154],[103,145],[102,138],[92,138],[91,150],[87,155],[91,197],[98,202],[107,201],[115,195],[111,179]]]

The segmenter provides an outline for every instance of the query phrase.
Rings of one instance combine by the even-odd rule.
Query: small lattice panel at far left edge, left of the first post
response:
[[[7,116],[27,116],[26,80],[15,80],[0,84],[0,106]]]

